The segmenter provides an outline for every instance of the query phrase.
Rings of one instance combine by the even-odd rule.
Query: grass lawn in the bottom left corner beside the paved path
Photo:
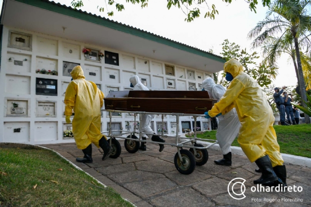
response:
[[[50,150],[0,148],[0,206],[132,206],[99,187]]]

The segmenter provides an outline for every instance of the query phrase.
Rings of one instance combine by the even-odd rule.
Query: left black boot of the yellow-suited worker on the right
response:
[[[259,179],[254,180],[254,184],[270,185],[278,179],[273,171],[272,164],[268,155],[260,157],[256,161],[257,166],[261,170],[261,176]]]

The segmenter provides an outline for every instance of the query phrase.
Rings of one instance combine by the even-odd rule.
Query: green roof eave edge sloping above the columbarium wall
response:
[[[223,59],[222,57],[214,55],[212,53],[208,53],[206,51],[203,51],[203,50],[200,50],[200,49],[197,49],[197,48],[194,48],[194,47],[191,47],[191,46],[188,46],[188,45],[185,45],[185,44],[182,44],[182,43],[179,43],[179,42],[176,42],[176,41],[173,41],[173,40],[170,40],[170,39],[158,36],[158,35],[154,35],[154,34],[151,34],[149,32],[146,32],[146,31],[143,31],[137,28],[133,28],[133,27],[130,27],[130,26],[118,23],[118,22],[114,22],[112,20],[99,17],[91,13],[83,12],[81,10],[76,10],[76,9],[61,5],[61,4],[57,4],[55,2],[50,2],[48,0],[15,0],[15,1],[27,4],[27,5],[31,5],[37,8],[41,8],[44,10],[48,10],[51,12],[55,12],[61,15],[69,16],[72,18],[86,21],[86,22],[90,22],[90,23],[100,25],[103,27],[107,27],[113,30],[123,32],[123,33],[131,34],[133,36],[137,36],[137,37],[140,37],[146,40],[164,44],[164,45],[167,45],[167,46],[179,49],[179,50],[183,50],[189,53],[193,53],[195,55],[199,55],[205,58],[218,61],[221,63],[226,62],[225,59]]]

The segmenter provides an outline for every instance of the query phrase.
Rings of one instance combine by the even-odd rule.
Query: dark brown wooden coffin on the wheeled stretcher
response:
[[[204,114],[217,102],[207,91],[114,91],[105,109],[159,113]]]

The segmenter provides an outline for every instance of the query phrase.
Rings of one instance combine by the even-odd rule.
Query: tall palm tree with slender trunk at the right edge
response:
[[[305,37],[304,43],[309,42],[308,37],[305,35],[311,31],[311,17],[306,10],[309,5],[311,5],[310,0],[278,0],[269,7],[266,18],[257,23],[257,26],[248,34],[250,39],[255,38],[252,43],[254,48],[261,46],[271,37],[277,36],[277,39],[281,41],[286,38],[286,35],[291,34],[297,62],[298,85],[301,91],[301,99],[305,102],[307,99],[298,39],[299,37]],[[303,106],[306,107],[304,102]],[[306,123],[309,123],[308,116],[306,117]]]

